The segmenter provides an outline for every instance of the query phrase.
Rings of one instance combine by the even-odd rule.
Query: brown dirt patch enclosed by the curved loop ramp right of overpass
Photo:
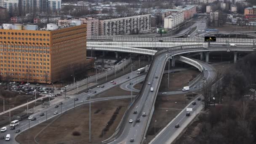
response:
[[[197,70],[189,69],[181,72],[170,73],[170,81],[168,88],[168,74],[164,74],[159,91],[178,91],[184,86],[189,84],[189,81],[193,80],[200,72]]]

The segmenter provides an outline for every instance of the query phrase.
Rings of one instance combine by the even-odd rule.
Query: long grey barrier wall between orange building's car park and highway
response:
[[[69,85],[69,87],[67,87],[66,90],[67,91],[71,91],[73,89],[76,89],[77,88],[77,83],[78,83],[78,86],[80,87],[80,86],[92,83],[92,82],[96,81],[96,79],[99,80],[101,78],[104,78],[104,77],[106,77],[106,75],[113,75],[113,74],[115,74],[115,72],[123,69],[124,67],[126,67],[130,63],[131,63],[131,57],[129,59],[126,59],[125,61],[123,61],[119,65],[114,65],[114,68],[112,68],[109,71],[101,72],[101,73],[98,73],[97,75],[93,75],[91,77],[87,77],[84,80],[76,82],[75,85],[74,84]]]

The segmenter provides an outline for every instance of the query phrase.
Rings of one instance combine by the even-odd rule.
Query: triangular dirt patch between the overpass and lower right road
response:
[[[192,93],[186,93],[186,96],[184,94],[157,96],[145,143],[149,143],[194,98]]]

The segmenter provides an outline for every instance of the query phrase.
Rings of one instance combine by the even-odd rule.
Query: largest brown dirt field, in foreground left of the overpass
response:
[[[100,144],[102,140],[109,138],[113,134],[129,103],[130,99],[122,99],[91,104],[91,143],[88,142],[88,104],[65,112],[48,128],[45,128],[45,126],[50,123],[50,121],[30,128],[30,132],[24,131],[16,137],[16,140],[21,144],[27,144],[28,142],[35,144],[35,135],[45,128],[45,130],[37,136],[37,141],[40,144]],[[118,107],[120,110],[118,110],[117,113]],[[99,111],[99,109],[101,110]],[[102,130],[107,125],[107,122],[113,118],[113,115],[116,115],[115,121],[113,121],[112,125],[108,128],[108,131],[104,131],[104,134],[101,136]],[[80,135],[74,136],[73,132],[75,131],[80,133]]]

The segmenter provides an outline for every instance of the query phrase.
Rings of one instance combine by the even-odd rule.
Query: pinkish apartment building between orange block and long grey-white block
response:
[[[90,39],[93,36],[99,35],[99,19],[94,19],[92,17],[79,18],[83,21],[83,24],[87,25],[87,38]]]

